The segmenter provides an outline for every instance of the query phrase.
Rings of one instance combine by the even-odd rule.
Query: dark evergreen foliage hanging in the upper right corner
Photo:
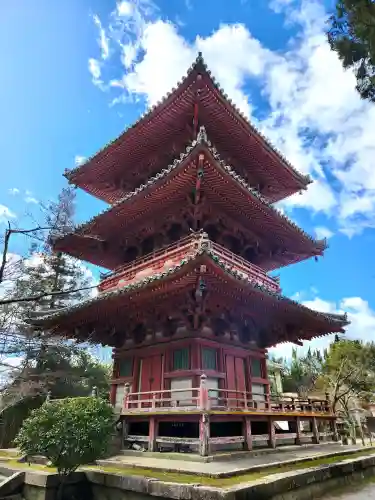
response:
[[[375,1],[337,0],[328,40],[344,68],[352,68],[363,99],[375,102]]]

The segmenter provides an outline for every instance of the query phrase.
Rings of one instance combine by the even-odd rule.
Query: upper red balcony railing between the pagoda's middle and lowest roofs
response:
[[[98,287],[99,292],[116,290],[117,288],[129,285],[148,276],[161,273],[178,265],[182,259],[190,257],[197,252],[202,239],[208,241],[211,251],[223,261],[224,264],[231,267],[233,270],[247,275],[250,280],[266,287],[271,292],[280,292],[278,277],[271,278],[260,267],[251,264],[239,255],[227,250],[222,245],[202,237],[200,233],[193,233],[190,236],[180,239],[176,243],[129,262],[117,268],[112,273],[102,275],[103,279]]]

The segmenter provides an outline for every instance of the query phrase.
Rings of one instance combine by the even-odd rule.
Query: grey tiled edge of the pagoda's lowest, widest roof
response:
[[[168,277],[172,277],[173,275],[175,275],[179,271],[181,271],[184,267],[193,263],[199,257],[204,256],[204,255],[207,256],[211,260],[211,262],[213,262],[216,266],[220,267],[227,275],[238,280],[242,284],[245,284],[247,286],[251,286],[253,289],[255,289],[261,293],[264,293],[265,295],[273,297],[276,300],[283,301],[286,304],[292,305],[293,307],[297,307],[297,308],[301,309],[302,311],[306,311],[310,316],[312,315],[312,316],[315,316],[317,318],[324,319],[325,321],[328,321],[331,324],[335,324],[336,326],[341,326],[341,327],[347,326],[350,323],[347,319],[346,314],[344,314],[344,315],[338,315],[338,314],[330,315],[328,313],[314,311],[314,310],[309,309],[308,307],[306,307],[302,304],[299,304],[298,302],[296,302],[288,297],[285,297],[277,292],[272,292],[271,290],[269,290],[265,286],[259,285],[257,282],[255,282],[253,280],[249,280],[248,278],[244,277],[244,275],[241,272],[232,269],[229,265],[227,265],[225,262],[223,262],[215,254],[215,252],[210,249],[210,241],[209,240],[203,241],[202,245],[200,246],[200,249],[197,250],[194,254],[182,259],[178,265],[175,265],[162,273],[158,273],[158,274],[155,274],[153,276],[148,276],[148,277],[143,278],[135,283],[131,283],[129,285],[126,285],[126,286],[124,286],[120,289],[114,290],[114,291],[104,292],[97,297],[94,297],[92,299],[88,299],[80,304],[71,306],[69,308],[59,310],[57,312],[53,312],[52,314],[43,314],[43,315],[41,314],[40,317],[36,317],[34,319],[30,318],[29,323],[34,324],[36,326],[41,326],[43,323],[46,324],[49,321],[52,321],[54,319],[56,320],[58,318],[66,317],[74,311],[84,309],[85,307],[87,307],[90,304],[105,301],[107,299],[114,298],[116,296],[123,295],[126,293],[132,293],[132,292],[137,291],[139,289],[142,289],[148,285],[151,285],[154,282],[164,280]],[[244,283],[244,282],[247,282],[247,283]]]

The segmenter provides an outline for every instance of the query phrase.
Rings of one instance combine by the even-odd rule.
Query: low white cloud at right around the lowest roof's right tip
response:
[[[369,303],[361,297],[343,298],[339,303],[329,302],[316,297],[313,300],[302,302],[306,307],[325,313],[343,314],[347,312],[348,320],[351,322],[346,327],[345,337],[351,339],[361,339],[364,341],[375,341],[375,311],[371,309]],[[310,342],[304,342],[302,347],[297,347],[297,352],[305,353],[309,347],[312,350],[323,350],[332,342],[334,335],[317,338]],[[280,344],[270,349],[270,353],[277,357],[290,357],[294,344]]]

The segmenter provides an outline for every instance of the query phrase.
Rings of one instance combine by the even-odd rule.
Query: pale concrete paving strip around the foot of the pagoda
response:
[[[131,468],[131,467],[143,467],[146,469],[154,470],[164,470],[164,471],[178,471],[181,473],[192,473],[192,474],[236,474],[239,472],[251,470],[253,467],[259,467],[261,465],[271,464],[280,465],[281,462],[288,462],[293,460],[309,459],[323,457],[328,453],[345,453],[348,451],[361,451],[363,450],[362,445],[349,445],[344,446],[339,443],[326,443],[320,445],[311,445],[304,447],[285,447],[280,449],[280,451],[274,451],[273,453],[260,455],[260,456],[249,456],[245,454],[242,457],[231,458],[228,454],[228,460],[221,459],[216,462],[194,462],[190,460],[181,460],[174,458],[173,460],[163,457],[163,453],[155,453],[155,457],[144,456],[144,455],[132,455],[131,452],[127,452],[126,455],[117,455],[111,457],[108,460],[98,461],[98,465],[113,465],[117,467]],[[374,448],[375,451],[375,448]]]

